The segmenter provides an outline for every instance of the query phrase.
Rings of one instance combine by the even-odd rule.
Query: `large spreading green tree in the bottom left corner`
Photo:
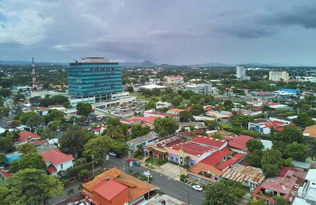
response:
[[[9,191],[4,204],[42,205],[63,194],[63,184],[56,176],[36,169],[18,171],[5,180],[4,187]]]

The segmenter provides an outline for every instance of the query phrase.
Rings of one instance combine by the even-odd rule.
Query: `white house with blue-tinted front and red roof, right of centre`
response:
[[[248,122],[248,130],[255,132],[260,132],[263,134],[270,134],[270,128],[273,126],[275,132],[280,132],[284,129],[285,126],[288,126],[288,122],[283,120],[271,120],[268,122],[259,122],[257,124],[253,122]]]

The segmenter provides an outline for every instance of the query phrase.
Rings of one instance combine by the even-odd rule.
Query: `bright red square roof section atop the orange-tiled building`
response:
[[[113,179],[109,179],[108,181],[105,179],[96,186],[92,187],[93,191],[109,201],[114,199],[126,189],[128,189],[127,186],[122,185],[122,183],[119,183]]]

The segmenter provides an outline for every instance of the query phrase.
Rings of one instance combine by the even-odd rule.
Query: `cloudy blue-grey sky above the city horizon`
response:
[[[0,0],[0,60],[316,66],[316,1]]]

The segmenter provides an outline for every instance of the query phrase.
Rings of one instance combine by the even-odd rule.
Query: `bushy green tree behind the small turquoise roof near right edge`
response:
[[[297,161],[305,161],[308,156],[308,151],[307,146],[294,141],[292,144],[286,146],[284,155]]]

